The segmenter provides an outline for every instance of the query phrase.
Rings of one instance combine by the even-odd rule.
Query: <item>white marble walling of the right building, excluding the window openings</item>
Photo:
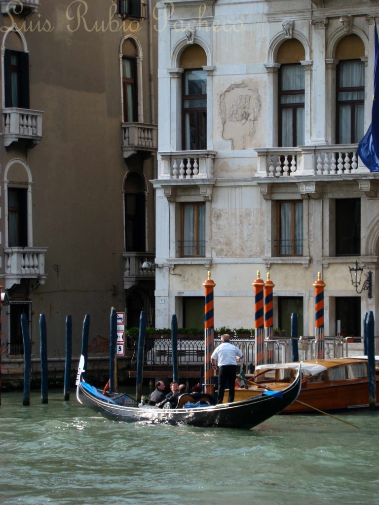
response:
[[[373,19],[379,17],[379,5],[368,0],[360,5],[163,0],[154,14],[159,30],[160,154],[154,181],[156,326],[169,326],[174,313],[179,326],[183,324],[182,299],[204,294],[209,269],[216,283],[215,327],[254,326],[252,282],[257,270],[263,279],[270,270],[275,284],[274,326],[280,322],[280,300],[302,298],[299,335],[314,335],[312,284],[318,272],[326,284],[325,335],[336,334],[337,298],[360,297],[361,318],[375,311],[377,175],[358,158],[356,143],[338,144],[336,52],[343,54],[340,42],[346,36],[361,41],[365,131],[371,118]],[[282,46],[286,42],[295,44],[289,48],[300,47],[304,67],[304,142],[295,147],[278,147],[278,59],[287,61],[287,46]],[[206,149],[191,155],[182,148],[185,69],[180,64],[187,47],[196,45],[206,57],[207,141]],[[185,165],[191,156],[198,161],[195,169]],[[346,198],[360,202],[358,256],[337,254],[335,203]],[[287,200],[302,202],[301,255],[278,255],[274,247],[277,203]],[[183,257],[177,245],[180,209],[191,202],[205,203],[206,243],[204,254]],[[348,266],[356,259],[366,273],[373,273],[370,299],[351,285]]]

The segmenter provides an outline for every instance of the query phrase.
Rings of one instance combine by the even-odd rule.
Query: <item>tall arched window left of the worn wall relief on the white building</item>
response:
[[[184,49],[180,67],[182,79],[182,149],[207,148],[207,65],[204,49],[192,44]]]

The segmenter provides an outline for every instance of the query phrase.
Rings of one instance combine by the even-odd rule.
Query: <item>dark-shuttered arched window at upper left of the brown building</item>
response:
[[[17,30],[7,33],[4,51],[4,106],[29,109],[29,54]]]

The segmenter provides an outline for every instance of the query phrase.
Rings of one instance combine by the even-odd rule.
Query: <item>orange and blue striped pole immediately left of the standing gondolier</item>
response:
[[[213,352],[214,341],[214,320],[213,320],[213,288],[215,283],[211,279],[211,272],[208,271],[208,279],[203,282],[205,287],[205,318],[204,318],[204,392],[212,394],[214,391],[213,368],[211,354]]]

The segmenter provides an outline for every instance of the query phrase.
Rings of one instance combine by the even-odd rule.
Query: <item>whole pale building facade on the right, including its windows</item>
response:
[[[377,16],[369,0],[157,4],[157,326],[202,324],[211,270],[215,327],[254,327],[259,270],[274,326],[297,313],[314,335],[320,272],[325,335],[362,335],[379,303],[378,176],[357,155]]]

